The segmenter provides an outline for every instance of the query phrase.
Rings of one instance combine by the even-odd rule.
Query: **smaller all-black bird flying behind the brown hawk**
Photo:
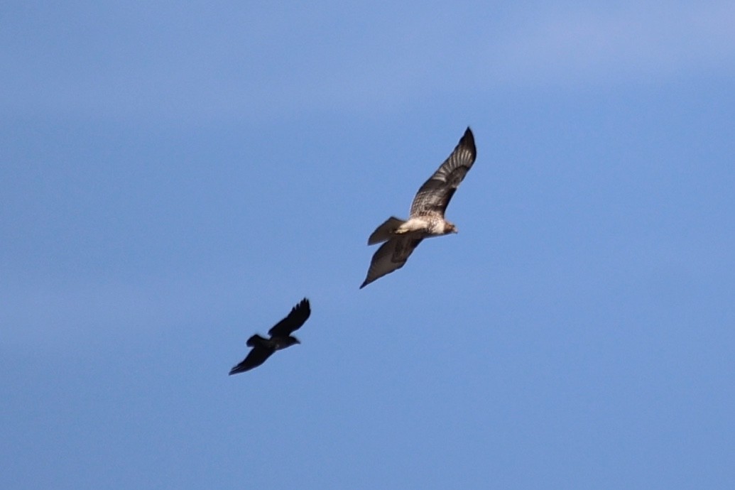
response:
[[[310,314],[312,314],[312,309],[309,306],[309,300],[304,298],[298,305],[291,309],[287,317],[270,328],[268,331],[270,339],[266,339],[258,334],[251,336],[245,345],[253,347],[253,350],[248,353],[248,356],[240,364],[237,364],[237,366],[230,370],[230,374],[234,375],[238,372],[249,371],[263,364],[265,359],[268,359],[276,350],[285,349],[294,344],[301,344],[291,334],[301,328],[301,325],[304,325],[304,322],[306,322]]]

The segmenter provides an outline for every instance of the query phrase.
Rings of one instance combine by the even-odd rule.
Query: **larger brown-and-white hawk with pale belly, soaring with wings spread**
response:
[[[456,226],[444,219],[444,212],[462,179],[470,171],[476,156],[475,137],[470,128],[467,128],[451,155],[416,192],[409,219],[389,217],[368,238],[368,245],[385,243],[373,255],[368,276],[360,289],[404,267],[406,260],[424,238],[457,232]]]

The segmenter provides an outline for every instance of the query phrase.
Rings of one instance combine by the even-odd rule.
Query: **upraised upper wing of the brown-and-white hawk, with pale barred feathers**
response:
[[[449,201],[470,171],[476,156],[475,137],[467,128],[451,155],[416,193],[411,203],[411,217],[434,214],[444,217]]]

